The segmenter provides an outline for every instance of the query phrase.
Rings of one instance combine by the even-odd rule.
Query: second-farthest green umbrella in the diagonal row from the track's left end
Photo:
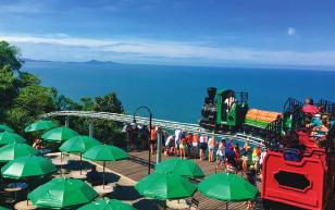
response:
[[[89,136],[74,136],[63,143],[60,150],[69,153],[83,153],[97,145],[100,145],[100,141]]]

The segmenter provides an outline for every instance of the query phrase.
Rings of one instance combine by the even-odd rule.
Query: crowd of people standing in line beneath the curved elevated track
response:
[[[127,134],[128,141],[134,141],[133,133]],[[167,133],[164,129],[152,126],[151,131],[147,126],[137,128],[138,141],[141,149],[150,149],[151,153],[157,152],[157,143],[161,141],[161,151],[166,157],[174,156],[181,159],[199,159],[201,161],[215,162],[216,170],[224,170],[233,173],[246,172],[249,166],[259,173],[265,150],[260,146],[251,148],[248,141],[240,147],[240,143],[233,139],[219,139],[214,134],[188,133],[183,129],[175,129]],[[148,145],[149,143],[149,145]]]

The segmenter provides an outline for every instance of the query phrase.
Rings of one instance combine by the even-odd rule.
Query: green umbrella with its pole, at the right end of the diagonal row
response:
[[[84,158],[94,161],[103,161],[103,188],[104,188],[104,168],[106,161],[117,161],[128,158],[127,152],[111,146],[111,145],[97,145],[84,153]]]

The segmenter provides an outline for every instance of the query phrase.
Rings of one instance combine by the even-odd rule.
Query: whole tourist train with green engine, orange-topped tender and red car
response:
[[[334,192],[335,103],[310,102],[307,106],[318,111],[306,111],[302,102],[289,98],[282,113],[269,112],[249,109],[247,92],[208,88],[200,126],[221,133],[249,133],[264,139],[264,209],[288,205],[324,210]]]

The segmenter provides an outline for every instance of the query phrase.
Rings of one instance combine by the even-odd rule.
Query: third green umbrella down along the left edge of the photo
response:
[[[8,162],[20,157],[36,156],[39,151],[29,145],[12,143],[0,148],[0,162]]]

